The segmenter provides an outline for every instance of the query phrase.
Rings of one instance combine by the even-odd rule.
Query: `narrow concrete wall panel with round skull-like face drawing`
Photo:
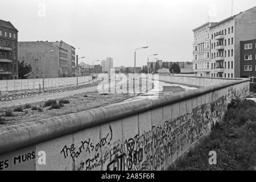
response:
[[[139,164],[134,156],[135,151],[137,151],[134,137],[139,133],[138,115],[122,119],[122,132],[123,152],[126,156],[125,170],[138,170]]]

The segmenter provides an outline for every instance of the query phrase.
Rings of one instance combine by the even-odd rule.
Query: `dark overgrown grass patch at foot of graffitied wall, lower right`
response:
[[[223,121],[172,170],[244,171],[256,168],[256,103],[232,100]],[[217,165],[209,165],[209,151],[216,151]]]

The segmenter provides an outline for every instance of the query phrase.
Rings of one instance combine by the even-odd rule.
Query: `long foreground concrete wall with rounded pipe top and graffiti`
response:
[[[161,77],[173,78],[218,84],[1,128],[0,170],[166,169],[220,122],[235,94],[249,92],[249,79]]]

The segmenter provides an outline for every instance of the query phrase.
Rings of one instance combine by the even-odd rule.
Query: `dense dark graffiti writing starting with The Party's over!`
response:
[[[113,140],[114,131],[109,128],[106,136],[98,143],[89,139],[81,141],[80,146],[72,144],[61,150],[64,158],[74,161],[82,152],[93,154],[76,164],[78,170],[160,170],[167,160],[175,159],[193,143],[209,133],[213,123],[220,121],[226,110],[227,97],[200,105],[191,113],[165,121],[162,126],[152,126],[131,138]],[[123,142],[121,142],[123,141]],[[77,161],[76,161],[77,162]]]

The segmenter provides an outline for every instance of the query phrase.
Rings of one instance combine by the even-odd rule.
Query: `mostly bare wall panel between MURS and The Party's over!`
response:
[[[73,143],[72,135],[49,140],[36,144],[36,154],[46,152],[46,165],[36,163],[37,171],[71,171],[74,169],[75,160],[71,158],[71,152],[67,151]],[[37,156],[42,161],[43,154]]]

